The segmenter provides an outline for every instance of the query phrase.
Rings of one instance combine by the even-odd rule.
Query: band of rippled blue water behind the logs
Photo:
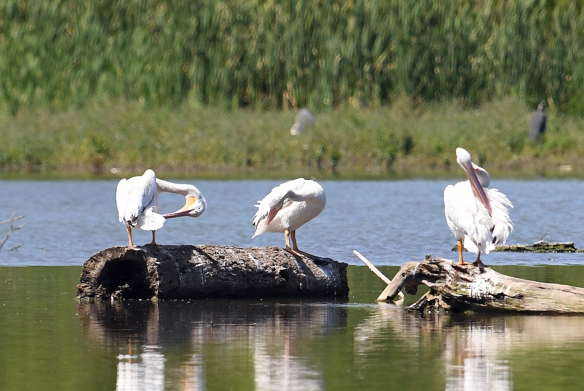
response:
[[[456,241],[444,220],[443,191],[454,181],[322,181],[325,210],[297,232],[301,249],[360,264],[358,250],[378,265],[401,265],[424,255],[455,257]],[[284,245],[284,235],[264,233],[252,240],[252,217],[258,199],[278,182],[194,181],[208,209],[192,219],[168,220],[157,233],[161,244],[223,244],[241,247]],[[116,181],[0,181],[0,219],[16,210],[28,222],[1,251],[0,265],[82,265],[113,245],[126,245],[117,221]],[[509,243],[574,241],[584,247],[584,181],[492,181],[512,200],[515,229]],[[162,194],[161,210],[183,205],[179,195]],[[22,221],[22,220],[21,220]],[[0,226],[4,237],[6,226]],[[134,230],[136,243],[151,234]],[[472,255],[471,255],[472,257]],[[485,255],[489,265],[584,264],[584,254]]]

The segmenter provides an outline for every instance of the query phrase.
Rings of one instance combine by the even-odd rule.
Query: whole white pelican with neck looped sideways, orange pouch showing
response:
[[[185,196],[186,205],[173,213],[158,213],[158,193],[162,192]],[[120,222],[126,224],[128,245],[136,247],[132,241],[132,228],[152,231],[152,241],[148,245],[157,245],[155,232],[162,228],[166,219],[198,217],[204,212],[206,202],[195,186],[163,181],[154,171],[147,169],[140,176],[120,179],[116,188],[116,205]]]

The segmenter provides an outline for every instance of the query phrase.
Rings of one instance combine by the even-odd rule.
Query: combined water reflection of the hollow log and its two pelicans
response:
[[[258,389],[321,389],[321,369],[304,359],[298,345],[346,327],[347,320],[345,306],[318,302],[126,300],[80,302],[78,312],[89,339],[116,348],[119,389],[144,388],[146,382],[164,389],[172,381],[182,389],[204,389],[216,371],[208,365],[229,366],[230,357],[250,358]],[[177,345],[180,358],[169,358],[167,351]]]

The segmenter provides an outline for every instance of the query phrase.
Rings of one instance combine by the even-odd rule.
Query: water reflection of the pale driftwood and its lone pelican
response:
[[[387,343],[387,334],[399,344],[432,344],[440,349],[446,389],[513,389],[510,352],[584,342],[584,319],[568,316],[436,316],[422,319],[418,313],[379,303],[361,321],[354,334],[355,351],[368,354]],[[409,350],[409,349],[408,349]]]

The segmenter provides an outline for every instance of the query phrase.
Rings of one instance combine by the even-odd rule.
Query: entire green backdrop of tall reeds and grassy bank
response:
[[[6,0],[0,172],[584,175],[582,47],[582,1]]]

